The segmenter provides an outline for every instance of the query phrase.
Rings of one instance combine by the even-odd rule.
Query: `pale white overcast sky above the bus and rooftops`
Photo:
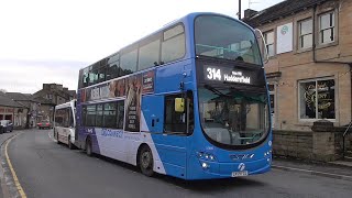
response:
[[[251,0],[263,10],[283,0]],[[77,89],[78,70],[189,12],[237,18],[238,0],[0,0],[0,89]],[[242,0],[242,10],[249,0]],[[242,14],[243,15],[243,14]]]

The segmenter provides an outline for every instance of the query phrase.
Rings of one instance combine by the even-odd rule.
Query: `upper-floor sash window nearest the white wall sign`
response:
[[[312,20],[298,22],[299,25],[299,48],[309,48],[312,46]]]

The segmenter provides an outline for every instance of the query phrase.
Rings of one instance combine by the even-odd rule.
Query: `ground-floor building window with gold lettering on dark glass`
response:
[[[300,119],[336,119],[333,79],[299,82]]]

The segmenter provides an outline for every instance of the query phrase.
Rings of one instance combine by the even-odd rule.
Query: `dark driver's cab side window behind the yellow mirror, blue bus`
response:
[[[187,91],[187,99],[183,112],[175,110],[175,100],[183,98],[183,95],[165,97],[164,132],[165,133],[191,133],[194,130],[194,102],[193,92]]]

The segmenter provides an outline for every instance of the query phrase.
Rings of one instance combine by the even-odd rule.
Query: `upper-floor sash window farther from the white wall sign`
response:
[[[334,13],[329,12],[319,16],[319,41],[321,44],[334,41]]]

